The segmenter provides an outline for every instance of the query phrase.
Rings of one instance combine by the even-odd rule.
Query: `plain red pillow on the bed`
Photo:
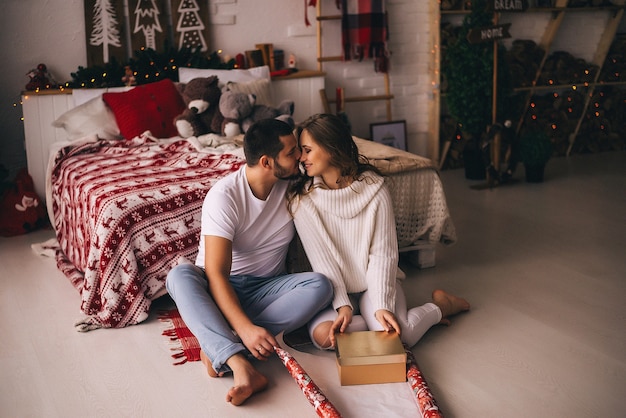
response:
[[[143,84],[123,93],[104,93],[102,99],[113,111],[120,133],[126,139],[148,130],[157,138],[178,135],[174,118],[185,110],[185,103],[170,79]]]

